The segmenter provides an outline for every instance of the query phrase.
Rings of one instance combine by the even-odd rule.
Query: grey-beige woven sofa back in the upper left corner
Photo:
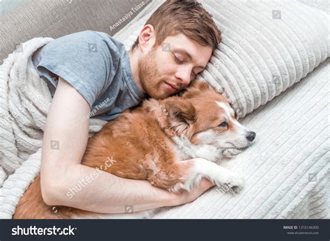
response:
[[[17,45],[34,37],[58,38],[87,29],[113,36],[148,3],[148,0],[26,0],[0,17],[0,64]]]

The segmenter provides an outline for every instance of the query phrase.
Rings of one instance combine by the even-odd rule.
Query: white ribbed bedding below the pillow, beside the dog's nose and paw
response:
[[[329,59],[240,120],[255,145],[224,163],[245,177],[242,193],[214,188],[155,218],[329,218]]]

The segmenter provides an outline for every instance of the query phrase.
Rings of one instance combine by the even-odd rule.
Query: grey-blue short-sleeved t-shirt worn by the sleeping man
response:
[[[107,33],[82,31],[56,38],[32,61],[52,97],[62,77],[86,99],[91,118],[112,120],[145,97],[133,79],[125,46]]]

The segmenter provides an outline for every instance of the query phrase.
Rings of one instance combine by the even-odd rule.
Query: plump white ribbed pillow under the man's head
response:
[[[149,8],[115,38],[127,50],[148,17]],[[213,15],[222,42],[198,76],[223,91],[239,117],[266,104],[330,55],[329,15],[294,0],[200,1]]]

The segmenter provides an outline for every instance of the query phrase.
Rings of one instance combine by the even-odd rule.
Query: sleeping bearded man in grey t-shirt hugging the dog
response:
[[[221,40],[212,16],[196,1],[166,1],[127,53],[107,33],[84,31],[49,42],[33,55],[53,100],[42,150],[41,189],[48,205],[104,213],[134,212],[194,201],[212,183],[171,194],[146,180],[102,172],[69,198],[68,192],[95,171],[81,165],[88,117],[112,120],[143,98],[166,98],[189,86]],[[87,118],[86,118],[87,117]],[[52,141],[58,148],[52,148]]]

